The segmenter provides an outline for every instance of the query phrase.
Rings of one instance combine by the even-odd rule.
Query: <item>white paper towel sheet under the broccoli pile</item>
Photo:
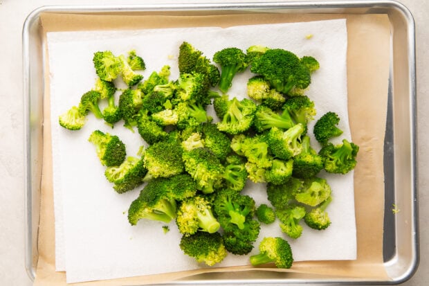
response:
[[[312,35],[312,37],[307,37]],[[114,129],[89,115],[83,129],[70,132],[57,124],[58,116],[93,87],[95,51],[110,50],[125,54],[135,49],[147,64],[143,75],[171,66],[171,78],[177,78],[178,48],[190,42],[204,55],[236,46],[246,50],[255,44],[285,48],[298,56],[312,55],[320,62],[306,93],[315,103],[319,118],[336,111],[341,118],[341,138],[351,139],[347,115],[347,28],[345,19],[295,24],[266,24],[232,28],[177,28],[161,30],[123,30],[48,33],[51,79],[51,116],[53,138],[53,177],[55,197],[55,249],[57,271],[66,270],[68,283],[102,280],[146,274],[159,274],[204,267],[179,249],[174,222],[164,233],[161,222],[140,220],[137,226],[127,221],[129,204],[140,188],[122,195],[114,192],[104,178],[104,167],[87,141],[95,129],[120,136],[127,154],[134,156],[143,140],[119,123]],[[250,73],[238,74],[228,91],[242,98]],[[315,121],[316,121],[315,120]],[[315,122],[314,121],[314,122]],[[314,123],[313,122],[313,123]],[[312,129],[312,125],[309,127]],[[312,143],[318,146],[314,138]],[[317,148],[317,147],[316,147]],[[302,237],[288,239],[295,260],[356,259],[353,172],[327,175],[334,200],[329,206],[332,224],[326,231],[304,226]],[[248,184],[244,193],[257,204],[268,202],[263,184]],[[263,226],[257,245],[264,236],[282,236],[278,224]],[[248,256],[232,254],[218,266],[248,265]]]

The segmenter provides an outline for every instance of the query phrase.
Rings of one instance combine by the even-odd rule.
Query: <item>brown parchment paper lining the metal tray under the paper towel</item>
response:
[[[44,27],[49,29],[49,27],[52,27],[50,25],[55,23],[55,28],[59,28],[58,20],[61,19],[61,22],[63,24],[71,23],[69,20],[75,20],[76,18],[73,17],[64,17],[62,15],[59,18],[51,17],[53,15],[50,15],[50,17],[44,18]],[[276,17],[273,17],[276,16]],[[80,23],[82,24],[82,28],[86,24],[85,20],[86,18],[92,18],[92,17],[78,17],[82,18],[79,21],[72,21],[73,23]],[[95,17],[97,18],[97,17]],[[114,17],[113,17],[114,18]],[[129,17],[125,17],[127,20],[130,19]],[[131,17],[132,18],[132,17]],[[151,22],[147,21],[151,17],[145,17],[145,24]],[[214,21],[217,22],[219,19],[216,19],[217,17],[208,17],[208,19],[204,18],[204,23],[208,21]],[[255,17],[254,15],[252,17],[248,15],[234,15],[233,17],[228,17],[232,23],[235,21],[239,22],[240,24],[243,24],[244,22],[248,22],[249,24],[257,24],[259,22],[275,22],[275,21],[291,21],[290,15],[286,17],[285,19],[284,15],[269,15],[267,17],[266,15],[257,15]],[[182,17],[167,17],[170,21],[159,21],[159,19],[153,19],[154,21],[152,23],[170,23],[172,24],[174,20],[174,24],[177,24],[179,22],[179,25],[182,23],[190,24],[192,21],[182,21],[184,18]],[[302,18],[302,19],[305,19]],[[300,20],[302,20],[300,19]],[[315,19],[315,17],[311,17],[310,19]],[[382,172],[374,172],[374,170],[383,170],[383,160],[382,160],[382,152],[380,150],[383,150],[383,138],[381,137],[374,137],[373,134],[383,134],[383,130],[385,127],[385,110],[377,110],[374,112],[374,114],[378,114],[380,118],[376,118],[376,120],[372,120],[372,122],[379,122],[379,125],[366,125],[361,122],[361,120],[353,120],[353,118],[359,118],[358,114],[355,112],[360,112],[361,106],[363,105],[363,102],[365,102],[365,98],[369,98],[370,96],[374,96],[374,94],[378,94],[376,98],[379,98],[381,100],[380,105],[376,106],[385,106],[385,100],[387,98],[387,71],[388,71],[388,55],[386,51],[388,51],[388,21],[385,17],[378,17],[378,16],[363,16],[363,17],[347,17],[348,19],[348,29],[349,29],[349,56],[348,56],[348,71],[347,71],[347,77],[349,78],[349,116],[350,116],[350,122],[352,125],[352,134],[354,137],[354,141],[358,143],[361,146],[362,152],[360,152],[360,158],[358,163],[358,168],[355,170],[355,197],[356,197],[356,218],[358,220],[358,260],[355,261],[347,261],[347,262],[296,262],[294,264],[292,271],[304,271],[307,273],[319,273],[319,274],[328,274],[331,276],[336,275],[345,275],[350,277],[368,277],[368,276],[374,276],[379,277],[380,279],[385,278],[385,274],[383,273],[382,269],[382,256],[381,256],[381,243],[382,243],[382,227],[383,227],[383,176]],[[46,20],[46,21],[45,21]],[[53,21],[51,21],[53,20]],[[96,19],[93,19],[96,20]],[[119,19],[118,19],[119,20]],[[158,20],[158,21],[156,21]],[[201,18],[195,19],[196,21],[193,23],[194,25],[197,25],[199,21],[201,21]],[[216,21],[217,20],[217,21]],[[296,19],[298,20],[298,19]],[[308,19],[307,19],[308,20]],[[89,21],[91,22],[91,21]],[[128,21],[123,21],[122,23],[125,23],[125,26],[127,26]],[[118,21],[118,23],[121,23],[121,21]],[[135,23],[135,22],[134,22]],[[366,24],[366,26],[364,25]],[[77,25],[79,26],[79,25]],[[70,27],[70,26],[69,26]],[[365,28],[366,27],[366,28]],[[77,28],[77,27],[75,27]],[[354,33],[352,33],[354,32]],[[370,33],[367,33],[370,32]],[[352,33],[352,35],[351,35]],[[356,37],[355,37],[356,36]],[[358,39],[358,41],[356,41]],[[369,43],[374,41],[374,39],[377,39],[377,42],[380,43],[377,47],[380,48],[380,51],[374,51],[374,46],[369,46]],[[381,39],[385,39],[385,41],[381,41]],[[367,41],[368,46],[365,46],[365,42]],[[385,44],[383,46],[383,43]],[[352,46],[352,44],[354,44]],[[365,48],[367,48],[365,50]],[[378,50],[378,49],[376,49]],[[364,53],[365,51],[365,53]],[[362,61],[361,55],[365,54],[365,60],[367,62]],[[368,56],[369,54],[369,56]],[[358,64],[356,64],[358,63]],[[378,63],[380,65],[376,66],[374,63]],[[366,68],[365,68],[366,64]],[[369,66],[368,66],[369,65]],[[350,67],[352,66],[353,69]],[[378,68],[378,69],[376,69]],[[360,70],[362,69],[362,70]],[[375,71],[374,73],[370,73],[368,71]],[[363,73],[362,71],[365,71]],[[365,93],[360,93],[359,83],[361,80],[365,80],[367,82],[367,85],[365,85]],[[362,85],[360,85],[362,86]],[[354,88],[352,88],[354,87]],[[380,96],[381,95],[381,96]],[[386,96],[383,96],[386,95]],[[366,97],[369,96],[369,97]],[[48,110],[46,108],[45,110]],[[365,110],[365,113],[367,113],[367,109]],[[371,113],[369,113],[371,114]],[[48,118],[48,116],[46,116]],[[366,116],[368,118],[368,116]],[[355,132],[356,130],[356,132]],[[46,138],[46,137],[45,137]],[[370,144],[365,143],[370,142]],[[378,145],[377,145],[378,143]],[[375,145],[374,145],[375,144]],[[375,147],[374,147],[375,146]],[[378,148],[378,149],[377,149]],[[48,143],[46,143],[46,149],[48,150]],[[362,156],[362,154],[365,153],[365,157]],[[48,157],[46,159],[49,159],[50,154],[46,154]],[[39,267],[37,270],[37,282],[42,281],[40,285],[48,285],[49,280],[56,280],[58,281],[64,281],[64,274],[58,274],[54,273],[53,267],[54,267],[54,257],[53,257],[53,221],[50,219],[53,219],[53,217],[46,215],[50,214],[49,211],[52,211],[52,190],[51,190],[51,176],[50,176],[50,170],[49,165],[46,166],[46,172],[44,172],[44,188],[43,188],[43,196],[42,196],[42,214],[41,214],[41,231],[39,235]],[[360,168],[359,168],[360,167]],[[368,172],[365,172],[365,170],[368,170]],[[378,175],[379,176],[375,176]],[[370,175],[370,176],[368,176]],[[362,177],[360,177],[362,176]],[[360,179],[363,178],[363,179]],[[368,184],[368,183],[371,184]],[[371,192],[378,194],[378,199],[374,199],[370,204],[368,202],[365,202],[363,204],[362,197],[365,197],[365,192],[367,192],[366,186],[372,186]],[[378,186],[378,188],[375,188],[374,186]],[[364,195],[363,195],[364,194]],[[363,195],[363,196],[362,196]],[[361,198],[359,200],[359,197]],[[374,194],[372,194],[372,197],[374,198]],[[363,208],[363,206],[366,206],[368,208],[367,212],[361,212],[360,210]],[[365,219],[368,217],[372,217],[371,222],[372,224],[365,224]],[[378,218],[378,224],[376,223],[377,220],[374,220],[374,217]],[[368,219],[366,221],[369,221]],[[367,231],[369,230],[369,233],[372,233],[373,235],[366,235]],[[375,267],[374,267],[375,265]],[[243,270],[247,269],[246,267],[239,267],[237,270]],[[329,269],[329,271],[327,271]],[[365,269],[365,271],[362,272],[362,270]],[[232,269],[227,269],[232,270]],[[199,270],[201,271],[201,270]],[[194,274],[199,271],[191,271],[187,273],[179,273],[179,274],[168,274],[163,276],[151,276],[151,277],[145,277],[144,280],[140,280],[139,278],[133,278],[131,280],[126,280],[127,284],[129,283],[153,283],[154,281],[162,281],[162,280],[170,280],[172,278],[180,278],[182,276],[187,276],[190,274]],[[205,270],[202,270],[205,271]],[[210,269],[210,271],[226,271],[226,269]],[[275,269],[275,271],[278,271]],[[57,280],[59,279],[59,280]],[[134,280],[135,279],[135,280]],[[152,280],[154,279],[154,280]],[[132,282],[135,281],[135,282]],[[115,285],[115,281],[111,281],[113,283],[112,285]],[[107,282],[104,281],[102,283],[103,285],[107,285]],[[55,284],[57,285],[57,284]]]

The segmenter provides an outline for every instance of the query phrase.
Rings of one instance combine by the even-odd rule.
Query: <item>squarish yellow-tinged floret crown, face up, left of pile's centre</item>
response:
[[[171,177],[184,170],[180,143],[159,141],[146,148],[143,154],[149,177]]]

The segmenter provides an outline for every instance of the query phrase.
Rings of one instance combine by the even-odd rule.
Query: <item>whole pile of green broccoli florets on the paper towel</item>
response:
[[[154,220],[170,229],[174,222],[183,253],[212,266],[228,253],[250,253],[262,225],[277,221],[285,237],[264,238],[250,262],[279,268],[293,262],[285,238],[300,238],[303,224],[317,230],[331,224],[333,195],[320,173],[353,170],[358,145],[345,138],[331,143],[343,134],[333,111],[312,130],[320,150],[311,145],[316,105],[304,93],[319,68],[314,57],[250,46],[224,48],[210,59],[183,42],[178,78],[169,65],[143,78],[138,71],[145,71],[145,62],[136,51],[98,51],[93,65],[94,86],[59,123],[78,130],[93,114],[113,130],[122,125],[137,131],[142,144],[134,156],[114,134],[95,130],[89,137],[113,190],[140,189],[129,206],[129,224]],[[252,75],[247,94],[228,95],[235,75],[246,70]],[[116,88],[119,80],[125,89]],[[271,205],[244,195],[247,184],[266,186]]]

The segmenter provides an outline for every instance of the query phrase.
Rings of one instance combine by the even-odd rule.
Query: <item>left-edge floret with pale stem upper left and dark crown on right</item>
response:
[[[103,166],[119,166],[125,160],[125,144],[116,135],[95,130],[88,139],[95,145],[95,151]]]

